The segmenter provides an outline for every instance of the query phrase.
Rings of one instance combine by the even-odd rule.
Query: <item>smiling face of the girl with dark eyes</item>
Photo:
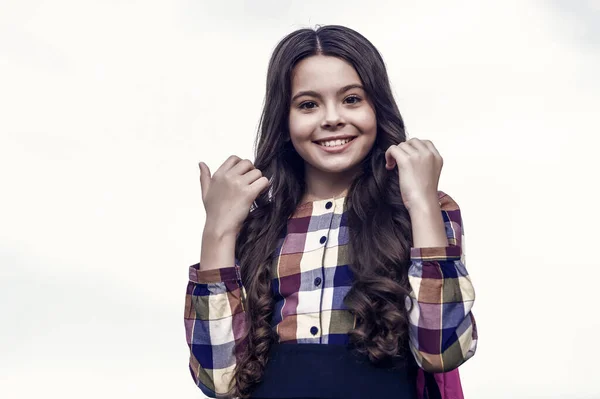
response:
[[[346,61],[315,55],[292,73],[290,138],[311,173],[354,172],[377,134],[375,110],[356,70]]]

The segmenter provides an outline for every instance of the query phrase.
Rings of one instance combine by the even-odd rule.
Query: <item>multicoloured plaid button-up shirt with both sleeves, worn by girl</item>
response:
[[[409,345],[421,373],[453,370],[477,346],[471,313],[475,293],[465,269],[460,210],[450,196],[438,194],[449,246],[411,248],[408,272]],[[344,305],[352,285],[348,241],[345,198],[302,204],[288,220],[272,263],[272,325],[280,342],[348,343],[356,323]],[[185,329],[190,371],[206,395],[221,396],[229,390],[236,365],[234,346],[247,328],[240,268],[200,271],[195,264],[189,271]]]

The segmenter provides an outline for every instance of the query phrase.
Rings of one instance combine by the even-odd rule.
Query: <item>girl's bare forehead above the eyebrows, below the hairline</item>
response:
[[[303,90],[336,91],[349,84],[362,84],[348,62],[331,56],[314,55],[300,61],[292,71],[292,94]]]

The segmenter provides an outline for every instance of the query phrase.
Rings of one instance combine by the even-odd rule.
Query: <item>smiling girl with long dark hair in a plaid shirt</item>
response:
[[[200,163],[190,370],[212,397],[462,398],[475,353],[460,210],[406,140],[384,62],[342,26],[275,48],[254,165]]]

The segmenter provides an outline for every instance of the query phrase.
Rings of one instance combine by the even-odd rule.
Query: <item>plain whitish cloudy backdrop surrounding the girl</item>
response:
[[[463,211],[469,398],[600,398],[598,1],[0,2],[0,397],[201,398],[198,161],[252,156],[287,33],[352,27]]]

